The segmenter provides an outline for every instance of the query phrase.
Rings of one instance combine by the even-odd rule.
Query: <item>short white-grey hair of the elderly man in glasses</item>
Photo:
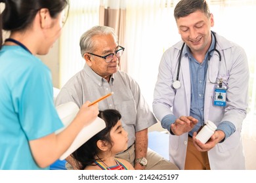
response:
[[[95,35],[112,35],[117,41],[117,35],[112,27],[96,25],[81,35],[80,50],[82,57],[85,53],[93,52],[93,49],[95,49],[93,42]]]

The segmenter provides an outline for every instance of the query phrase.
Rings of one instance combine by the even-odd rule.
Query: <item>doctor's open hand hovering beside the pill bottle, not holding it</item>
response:
[[[179,136],[183,133],[191,131],[191,129],[193,129],[197,123],[198,120],[196,118],[193,118],[192,116],[181,116],[180,118],[175,120],[174,124],[171,124],[171,131],[175,135]]]

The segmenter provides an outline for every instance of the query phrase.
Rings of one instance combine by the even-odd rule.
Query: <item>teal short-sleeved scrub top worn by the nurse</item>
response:
[[[20,46],[3,46],[0,50],[0,169],[41,169],[33,159],[29,141],[61,127],[49,68]]]

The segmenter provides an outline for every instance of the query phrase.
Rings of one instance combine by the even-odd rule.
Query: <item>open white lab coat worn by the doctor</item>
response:
[[[232,122],[236,131],[224,142],[209,150],[209,163],[211,169],[245,169],[240,132],[247,110],[249,80],[247,57],[240,46],[219,35],[216,37],[217,50],[221,52],[221,61],[219,61],[217,52],[213,53],[209,61],[205,86],[204,118],[215,122],[217,126],[223,121]],[[190,68],[188,57],[184,54],[181,58],[179,75],[181,88],[175,90],[172,87],[177,76],[182,43],[182,41],[178,42],[166,50],[161,59],[153,101],[154,114],[160,121],[167,114],[174,114],[176,118],[190,114]],[[216,78],[223,78],[223,86],[227,87],[226,107],[213,105],[214,90],[217,86],[213,82]],[[181,136],[170,135],[169,158],[180,169],[184,169],[187,143],[188,133]]]

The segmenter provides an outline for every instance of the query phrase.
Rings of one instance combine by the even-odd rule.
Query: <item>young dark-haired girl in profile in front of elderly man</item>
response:
[[[106,122],[106,128],[75,150],[72,157],[85,170],[131,170],[133,166],[114,156],[127,149],[127,132],[121,125],[121,114],[114,109],[100,111],[98,117]]]

